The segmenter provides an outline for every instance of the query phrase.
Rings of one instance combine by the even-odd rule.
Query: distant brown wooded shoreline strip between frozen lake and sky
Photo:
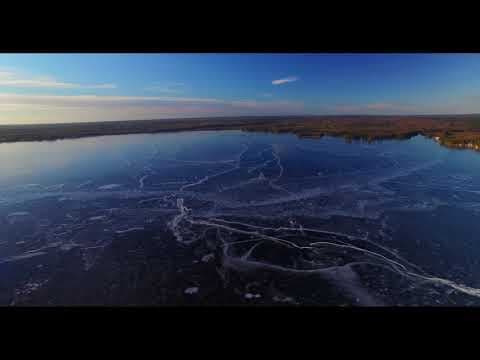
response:
[[[309,138],[329,135],[347,141],[423,135],[443,146],[480,150],[480,115],[263,116],[0,125],[0,143],[200,130],[292,133]]]

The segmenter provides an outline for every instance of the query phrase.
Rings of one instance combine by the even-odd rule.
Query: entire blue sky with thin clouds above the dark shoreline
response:
[[[0,54],[0,124],[480,113],[480,54]]]

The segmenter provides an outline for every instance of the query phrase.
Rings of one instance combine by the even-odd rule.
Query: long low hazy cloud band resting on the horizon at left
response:
[[[293,115],[303,112],[303,103],[295,101],[230,101],[172,96],[0,94],[0,124]]]

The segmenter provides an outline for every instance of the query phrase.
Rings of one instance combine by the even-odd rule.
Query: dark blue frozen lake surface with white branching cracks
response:
[[[479,305],[480,154],[239,131],[0,144],[0,304]]]

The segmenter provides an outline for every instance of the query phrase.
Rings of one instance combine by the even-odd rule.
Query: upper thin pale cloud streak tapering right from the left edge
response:
[[[51,88],[51,89],[114,89],[115,84],[79,84],[56,80],[48,76],[19,76],[15,72],[0,71],[0,86],[20,88]]]

